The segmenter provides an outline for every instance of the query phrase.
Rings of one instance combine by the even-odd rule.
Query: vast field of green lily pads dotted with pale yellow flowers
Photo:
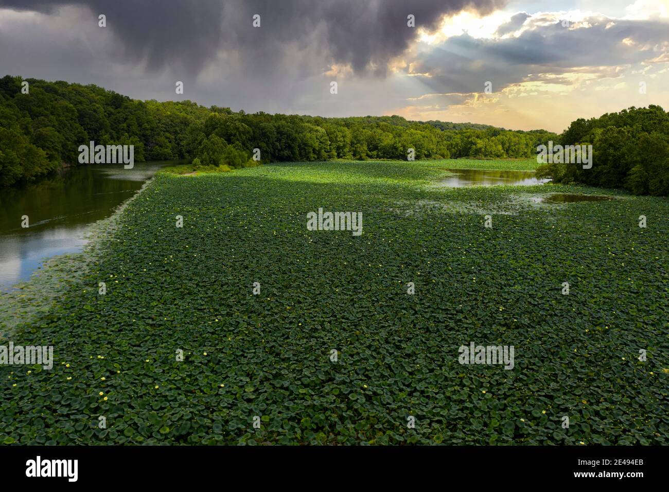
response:
[[[0,442],[669,444],[669,201],[461,167],[536,163],[158,173],[3,296],[2,343],[54,352],[0,365]]]

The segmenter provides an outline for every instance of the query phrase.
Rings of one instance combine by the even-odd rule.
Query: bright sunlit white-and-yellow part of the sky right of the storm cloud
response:
[[[413,58],[395,64],[421,87],[387,114],[562,131],[579,117],[668,104],[669,22],[662,17],[555,11],[497,13],[479,23],[488,29],[458,32],[445,23],[438,42],[419,43]],[[488,81],[492,94],[484,92]]]

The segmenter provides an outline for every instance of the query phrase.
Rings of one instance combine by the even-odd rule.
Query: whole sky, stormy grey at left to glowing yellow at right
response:
[[[0,0],[6,74],[246,112],[560,133],[669,109],[669,0]]]

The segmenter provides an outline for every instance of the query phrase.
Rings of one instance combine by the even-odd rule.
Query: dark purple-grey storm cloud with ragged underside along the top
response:
[[[290,50],[309,46],[330,62],[356,72],[385,64],[401,54],[417,29],[434,29],[446,14],[464,8],[492,11],[506,0],[0,0],[0,7],[58,14],[60,7],[88,7],[92,22],[104,13],[122,56],[146,62],[149,70],[183,66],[199,72],[219,50],[233,52],[270,73]],[[261,27],[252,27],[252,16]],[[72,29],[77,26],[73,25]],[[294,53],[294,51],[292,52]]]

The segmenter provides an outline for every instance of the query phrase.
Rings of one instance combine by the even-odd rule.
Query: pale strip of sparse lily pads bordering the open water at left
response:
[[[0,341],[16,335],[21,326],[51,311],[70,286],[90,270],[116,234],[118,222],[126,207],[154,179],[155,176],[145,181],[136,193],[114,208],[109,217],[90,224],[83,234],[86,244],[80,252],[46,258],[30,278],[13,285],[11,291],[0,293]]]

